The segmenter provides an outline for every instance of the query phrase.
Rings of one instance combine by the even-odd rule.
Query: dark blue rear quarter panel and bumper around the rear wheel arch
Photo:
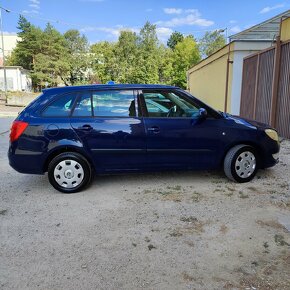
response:
[[[62,148],[77,148],[75,151],[87,155],[68,118],[24,117],[22,120],[28,121],[29,126],[10,144],[8,151],[10,164],[17,171],[43,174],[47,159]]]

